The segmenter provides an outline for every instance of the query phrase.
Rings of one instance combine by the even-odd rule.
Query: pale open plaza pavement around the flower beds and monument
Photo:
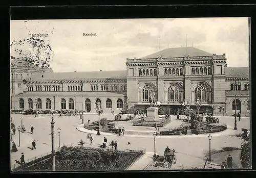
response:
[[[78,145],[80,139],[87,141],[87,133],[79,132],[77,126],[81,124],[79,116],[25,116],[22,114],[12,114],[13,122],[17,128],[20,125],[20,117],[23,116],[23,124],[26,127],[26,133],[20,133],[20,143],[21,146],[18,148],[18,151],[11,154],[12,164],[14,160],[19,160],[21,152],[24,152],[25,161],[28,159],[33,159],[35,157],[40,157],[41,155],[51,152],[51,118],[54,117],[55,121],[55,148],[58,148],[58,132],[57,128],[60,128],[60,147],[62,145]],[[105,114],[103,117],[110,117],[113,119],[115,115]],[[97,115],[86,115],[84,117],[84,122],[87,122],[88,117],[91,122],[97,121]],[[234,117],[220,117],[221,122],[226,123],[230,127],[234,124]],[[29,134],[31,126],[34,126],[34,134]],[[225,135],[213,135],[211,140],[211,150],[219,150],[222,147],[241,147],[242,140],[240,137],[233,136],[235,134],[241,133],[242,128],[249,127],[249,118],[241,118],[241,121],[238,121],[237,127],[238,130]],[[27,135],[25,137],[25,134]],[[14,141],[16,145],[17,142],[17,132],[14,136]],[[209,141],[207,138],[208,134],[200,137],[158,137],[156,138],[156,154],[163,155],[163,151],[166,146],[170,148],[175,148],[177,151],[177,164],[186,166],[188,164],[193,164],[194,166],[202,166],[201,160],[204,159],[204,154],[208,152]],[[86,144],[89,147],[99,147],[103,143],[103,137],[108,139],[108,142],[111,140],[117,141],[118,149],[143,149],[145,148],[147,152],[154,151],[154,138],[152,137],[129,137],[125,136],[106,136],[106,135],[92,135],[93,136],[93,145]],[[31,140],[36,141],[36,149],[31,150],[28,147],[31,147]],[[131,144],[128,145],[127,142]],[[89,141],[88,141],[89,143]],[[199,161],[200,160],[200,161]]]

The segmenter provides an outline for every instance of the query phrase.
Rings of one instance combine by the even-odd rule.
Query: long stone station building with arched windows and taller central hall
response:
[[[201,113],[230,116],[237,107],[242,116],[249,116],[249,68],[227,67],[225,54],[194,47],[167,48],[143,58],[127,58],[126,71],[53,72],[27,68],[19,59],[11,63],[12,110],[95,113],[99,101],[103,113],[130,108],[145,112],[150,93],[155,92],[161,114],[176,114],[184,101],[195,109],[198,101]]]

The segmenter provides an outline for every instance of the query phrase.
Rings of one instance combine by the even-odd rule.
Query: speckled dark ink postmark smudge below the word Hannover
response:
[[[44,39],[27,38],[11,42],[11,59],[21,59],[26,67],[50,68],[53,51]]]

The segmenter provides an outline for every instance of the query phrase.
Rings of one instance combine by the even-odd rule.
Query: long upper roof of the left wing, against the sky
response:
[[[31,80],[69,80],[69,79],[108,79],[126,78],[126,70],[90,71],[90,72],[52,72],[31,75]]]

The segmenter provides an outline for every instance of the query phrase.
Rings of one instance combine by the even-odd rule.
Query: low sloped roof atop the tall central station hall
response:
[[[160,56],[162,56],[162,58],[174,58],[174,57],[184,57],[185,55],[212,56],[212,54],[204,52],[203,50],[197,49],[195,47],[175,47],[175,48],[167,48],[167,49],[160,50],[160,52],[145,56],[140,59],[158,58]]]

